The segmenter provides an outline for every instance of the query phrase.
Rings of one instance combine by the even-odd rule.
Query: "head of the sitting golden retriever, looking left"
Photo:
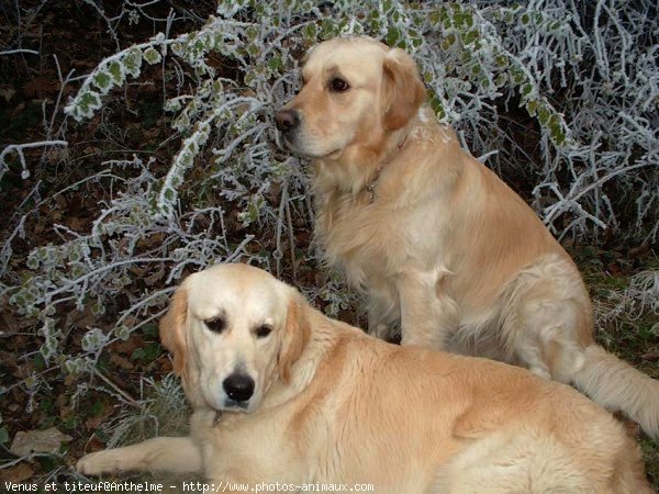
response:
[[[300,92],[275,115],[282,144],[301,156],[340,159],[350,147],[377,154],[425,100],[410,55],[372,38],[334,38],[305,58]]]

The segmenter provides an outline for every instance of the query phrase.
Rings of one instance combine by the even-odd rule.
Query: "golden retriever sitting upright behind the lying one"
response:
[[[593,341],[579,271],[533,210],[438,124],[416,66],[368,37],[311,49],[276,114],[311,158],[315,235],[368,295],[369,333],[573,383],[659,438],[659,383]]]

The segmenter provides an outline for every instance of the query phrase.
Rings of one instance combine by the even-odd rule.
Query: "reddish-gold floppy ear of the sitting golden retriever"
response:
[[[387,53],[384,72],[384,127],[390,131],[405,125],[426,99],[416,64],[400,48]]]

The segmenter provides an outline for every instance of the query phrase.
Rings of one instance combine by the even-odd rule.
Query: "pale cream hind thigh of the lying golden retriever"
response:
[[[602,423],[583,427],[592,430]],[[438,470],[431,492],[650,494],[652,490],[629,439],[616,438],[597,450],[529,427],[476,439]]]

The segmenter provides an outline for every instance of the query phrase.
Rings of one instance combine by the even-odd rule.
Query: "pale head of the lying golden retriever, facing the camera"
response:
[[[193,407],[252,412],[309,339],[304,300],[260,269],[221,265],[191,274],[160,322]]]

